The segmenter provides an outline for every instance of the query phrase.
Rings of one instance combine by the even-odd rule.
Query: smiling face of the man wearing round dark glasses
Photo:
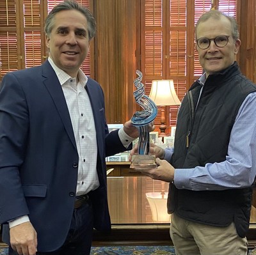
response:
[[[199,61],[208,76],[214,72],[220,72],[235,61],[241,42],[236,41],[232,37],[232,26],[227,17],[221,16],[220,19],[209,18],[204,22],[200,22],[196,29],[196,38],[215,38],[216,36],[227,35],[228,43],[225,47],[218,47],[214,40],[211,40],[210,46],[202,50],[196,45]]]

